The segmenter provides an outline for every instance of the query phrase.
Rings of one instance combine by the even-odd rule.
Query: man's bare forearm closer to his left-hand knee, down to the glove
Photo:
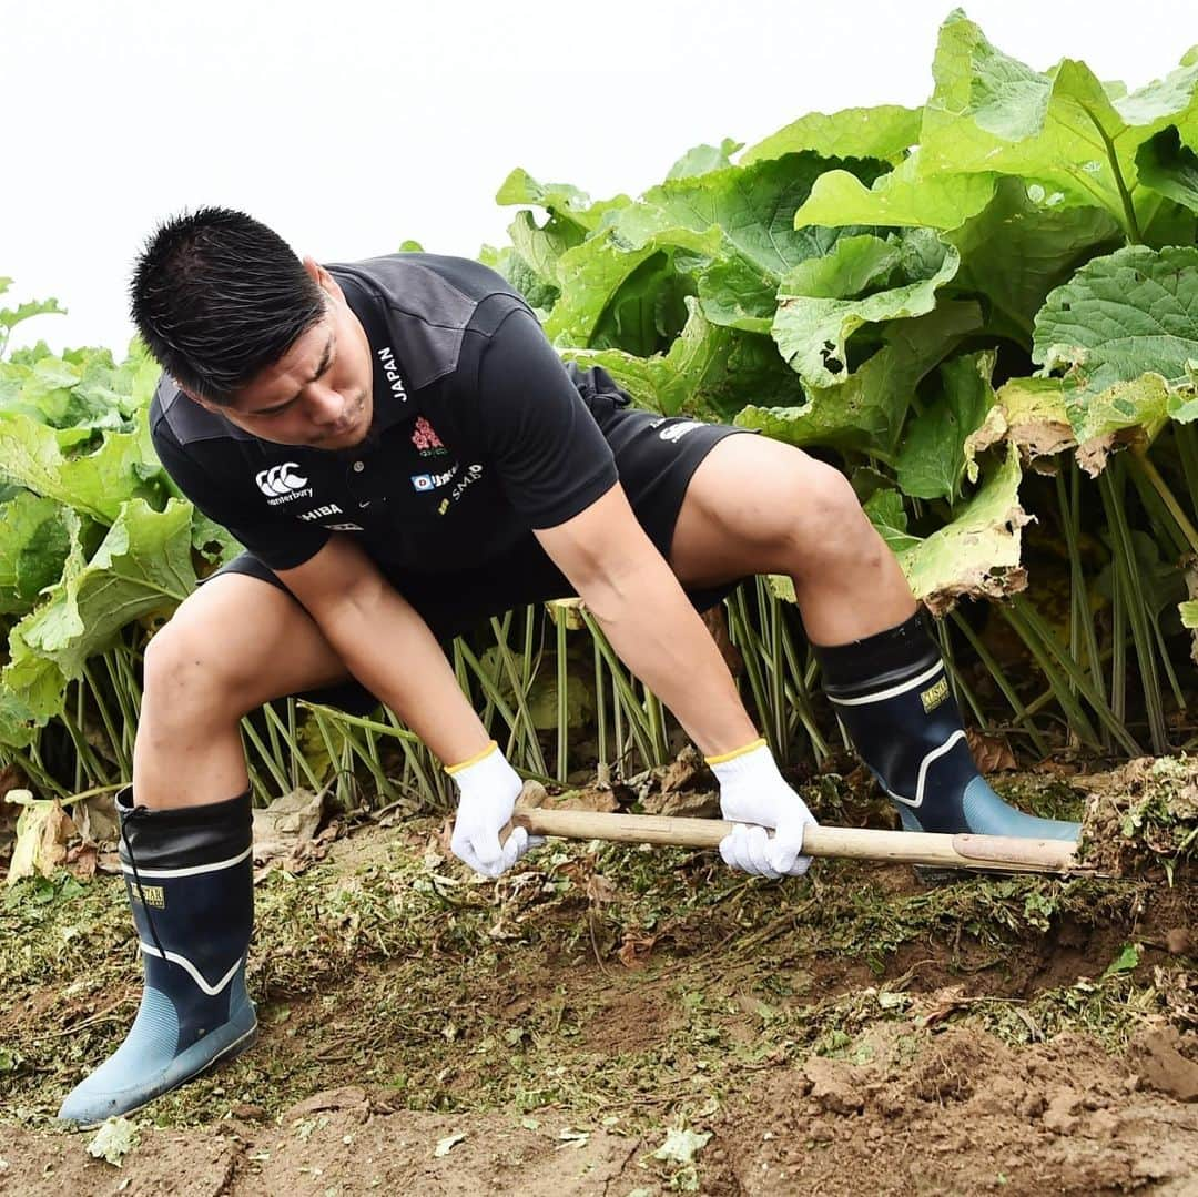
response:
[[[346,669],[446,764],[488,743],[436,637],[398,592],[363,586],[315,618]]]

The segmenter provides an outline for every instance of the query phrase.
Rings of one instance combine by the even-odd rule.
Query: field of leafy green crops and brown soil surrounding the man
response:
[[[322,797],[259,845],[261,1040],[89,1154],[52,1120],[137,1008],[111,794],[143,654],[237,546],[153,455],[144,347],[10,351],[56,309],[24,303],[0,310],[0,1191],[1198,1191],[1198,47],[1127,92],[954,13],[932,77],[921,108],[698,146],[636,198],[518,169],[479,256],[639,405],[843,470],[940,617],[980,763],[1084,816],[1097,875],[772,883],[551,842],[483,881],[394,715],[277,703],[243,724],[255,798]],[[791,580],[710,627],[821,822],[893,826]],[[585,609],[509,612],[453,660],[561,800],[716,812]]]

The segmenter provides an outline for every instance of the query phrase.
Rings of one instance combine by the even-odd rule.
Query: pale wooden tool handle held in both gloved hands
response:
[[[672,844],[714,848],[733,824],[718,818],[668,815],[605,815],[591,810],[518,808],[514,826],[530,835],[617,844]],[[932,832],[879,832],[855,827],[809,827],[803,852],[811,857],[898,860],[906,864],[1002,872],[1087,872],[1072,840],[1024,840],[1008,835],[942,835]]]

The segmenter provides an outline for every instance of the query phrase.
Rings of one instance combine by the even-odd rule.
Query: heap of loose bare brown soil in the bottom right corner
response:
[[[969,1028],[913,1045],[879,1027],[859,1063],[812,1058],[738,1102],[709,1191],[1192,1193],[1198,1105],[1169,1100],[1198,1072],[1181,1047],[1198,1056],[1198,1036],[1150,1033],[1120,1064],[1075,1035],[1015,1052]]]

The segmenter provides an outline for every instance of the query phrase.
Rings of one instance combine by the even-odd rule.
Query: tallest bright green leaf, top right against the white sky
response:
[[[1072,204],[1105,207],[1133,240],[1158,197],[1138,187],[1136,151],[1175,125],[1198,121],[1198,61],[1125,95],[1083,62],[1034,71],[992,46],[960,10],[940,26],[936,89],[924,108],[919,171],[934,179],[1000,173],[1059,188]]]

